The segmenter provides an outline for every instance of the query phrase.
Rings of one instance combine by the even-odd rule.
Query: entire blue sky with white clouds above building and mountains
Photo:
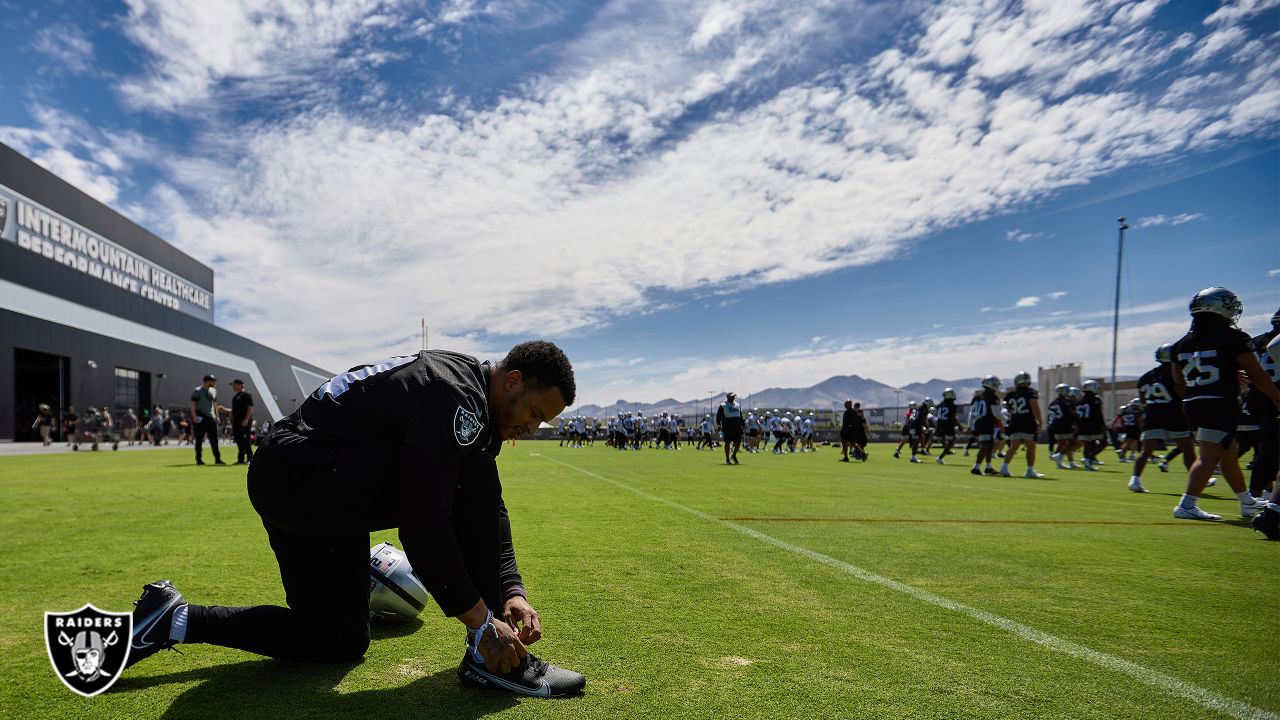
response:
[[[0,0],[0,141],[332,369],[582,402],[1110,365],[1280,305],[1280,1]]]

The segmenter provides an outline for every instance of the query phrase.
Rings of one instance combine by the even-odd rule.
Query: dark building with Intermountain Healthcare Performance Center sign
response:
[[[37,439],[40,404],[188,407],[206,374],[253,418],[332,373],[214,324],[214,270],[0,143],[0,441]]]

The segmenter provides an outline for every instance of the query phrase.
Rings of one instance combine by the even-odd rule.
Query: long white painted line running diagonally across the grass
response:
[[[595,478],[598,480],[609,483],[611,486],[614,486],[617,488],[625,489],[625,491],[627,491],[627,492],[630,492],[632,495],[637,495],[637,496],[640,496],[640,497],[643,497],[645,500],[652,500],[654,502],[660,502],[662,505],[666,505],[667,507],[671,507],[671,509],[675,509],[675,510],[680,510],[681,512],[687,512],[689,515],[692,515],[695,518],[700,518],[703,520],[707,520],[708,523],[714,523],[717,525],[722,525],[724,528],[730,528],[732,530],[737,530],[739,533],[742,533],[744,536],[755,538],[755,539],[758,539],[760,542],[767,542],[767,543],[769,543],[769,544],[772,544],[772,546],[774,546],[777,548],[785,550],[787,552],[799,555],[801,557],[808,557],[810,560],[815,560],[818,562],[822,562],[823,565],[828,565],[831,568],[836,568],[837,570],[844,570],[845,573],[847,573],[847,574],[858,578],[859,580],[864,580],[864,582],[868,582],[868,583],[874,583],[877,585],[886,587],[886,588],[892,589],[892,591],[897,591],[897,592],[900,592],[902,594],[909,594],[909,596],[911,596],[911,597],[914,597],[914,598],[916,598],[919,601],[928,602],[929,605],[936,605],[938,607],[945,607],[947,610],[952,610],[955,612],[960,612],[963,615],[968,615],[968,616],[973,618],[974,620],[980,620],[983,623],[987,623],[988,625],[995,625],[996,628],[1000,628],[1002,630],[1007,630],[1007,632],[1010,632],[1010,633],[1012,633],[1012,634],[1015,634],[1015,635],[1018,635],[1018,637],[1020,637],[1020,638],[1023,638],[1025,641],[1030,641],[1030,642],[1033,642],[1036,644],[1047,647],[1050,650],[1055,650],[1057,652],[1061,652],[1061,653],[1065,653],[1065,655],[1070,655],[1071,657],[1079,657],[1082,660],[1087,660],[1089,662],[1093,662],[1094,665],[1098,665],[1100,667],[1106,667],[1107,670],[1115,670],[1117,673],[1124,673],[1125,675],[1129,675],[1130,678],[1134,678],[1134,679],[1137,679],[1137,680],[1139,680],[1142,683],[1146,683],[1146,684],[1152,685],[1155,688],[1160,688],[1160,689],[1167,692],[1169,694],[1190,700],[1190,701],[1193,701],[1193,702],[1196,702],[1196,703],[1198,703],[1198,705],[1201,705],[1203,707],[1207,707],[1208,710],[1213,710],[1213,711],[1217,711],[1217,712],[1222,712],[1225,715],[1230,715],[1231,717],[1236,717],[1238,720],[1280,720],[1280,717],[1277,717],[1276,714],[1274,714],[1274,712],[1262,710],[1261,707],[1253,707],[1252,705],[1249,705],[1247,702],[1242,702],[1242,701],[1238,701],[1238,700],[1231,700],[1229,697],[1220,696],[1220,694],[1215,693],[1213,691],[1202,688],[1199,685],[1194,685],[1194,684],[1188,683],[1185,680],[1180,680],[1178,678],[1174,678],[1172,675],[1166,675],[1164,673],[1160,673],[1158,670],[1152,670],[1149,667],[1144,667],[1142,665],[1138,665],[1137,662],[1130,662],[1128,660],[1116,657],[1114,655],[1107,655],[1105,652],[1100,652],[1100,651],[1084,647],[1084,646],[1074,643],[1071,641],[1062,639],[1062,638],[1060,638],[1057,635],[1051,635],[1051,634],[1048,634],[1048,633],[1046,633],[1043,630],[1037,630],[1036,628],[1032,628],[1032,626],[1028,626],[1028,625],[1023,625],[1021,623],[1016,623],[1016,621],[1010,620],[1007,618],[1001,618],[1000,615],[995,615],[992,612],[987,612],[986,610],[979,610],[977,607],[970,607],[970,606],[964,605],[961,602],[956,602],[954,600],[948,600],[946,597],[942,597],[941,594],[934,594],[934,593],[932,593],[929,591],[924,591],[924,589],[920,589],[920,588],[916,588],[916,587],[913,587],[913,585],[908,585],[905,583],[900,583],[897,580],[892,580],[892,579],[886,578],[883,575],[877,575],[876,573],[872,573],[870,570],[864,570],[864,569],[861,569],[861,568],[859,568],[856,565],[850,565],[849,562],[845,562],[844,560],[836,560],[835,557],[831,557],[829,555],[823,555],[820,552],[809,550],[806,547],[800,547],[797,544],[791,544],[791,543],[788,543],[786,541],[781,541],[781,539],[778,539],[778,538],[776,538],[773,536],[767,536],[767,534],[764,534],[764,533],[762,533],[759,530],[753,530],[751,528],[748,528],[745,525],[739,525],[737,523],[732,523],[730,520],[722,520],[722,519],[719,519],[719,518],[717,518],[714,515],[710,515],[708,512],[703,512],[701,510],[695,510],[692,507],[689,507],[686,505],[681,505],[678,502],[667,500],[664,497],[659,497],[657,495],[648,493],[648,492],[645,492],[643,489],[634,488],[634,487],[631,487],[631,486],[628,486],[626,483],[621,483],[618,480],[614,480],[614,479],[611,479],[611,478],[605,478],[604,475],[600,475],[598,473],[593,473],[590,470],[579,468],[576,465],[570,465],[568,462],[563,462],[561,460],[556,460],[554,457],[549,457],[549,456],[543,455],[540,452],[530,452],[530,455],[536,456],[536,457],[541,457],[543,460],[548,460],[550,462],[556,462],[557,465],[563,465],[563,466],[566,466],[566,468],[568,468],[571,470],[576,470],[579,473],[582,473],[584,475],[589,475],[589,477]]]

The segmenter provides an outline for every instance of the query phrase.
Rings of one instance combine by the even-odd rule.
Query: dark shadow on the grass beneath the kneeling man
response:
[[[168,684],[200,684],[178,696],[161,717],[458,717],[476,719],[502,711],[517,698],[499,692],[463,688],[452,667],[407,685],[358,692],[338,692],[342,679],[358,664],[312,665],[279,660],[251,660],[159,675],[122,678],[116,692]]]

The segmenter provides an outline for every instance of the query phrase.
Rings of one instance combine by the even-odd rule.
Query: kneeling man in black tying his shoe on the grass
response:
[[[581,689],[581,675],[525,650],[541,623],[494,461],[503,439],[532,434],[575,393],[568,359],[543,341],[497,364],[422,351],[332,378],[273,425],[248,470],[288,607],[188,606],[172,583],[151,583],[129,662],[177,642],[357,660],[369,647],[369,533],[399,528],[419,579],[468,630],[465,683],[534,696]]]

